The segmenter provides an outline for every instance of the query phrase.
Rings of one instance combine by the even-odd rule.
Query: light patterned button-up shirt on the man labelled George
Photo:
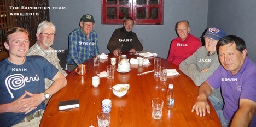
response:
[[[39,46],[38,42],[36,42],[28,51],[27,56],[32,56],[32,55],[38,55],[38,56],[42,56],[45,59],[47,59],[51,64],[53,64],[60,72],[63,76],[67,76],[66,72],[61,68],[60,66],[60,60],[57,56],[57,53],[54,52],[55,50],[51,47],[49,47],[49,49],[46,51],[44,50],[42,47]],[[45,82],[45,89],[48,89],[51,84],[54,83],[53,80],[50,79],[44,79]]]

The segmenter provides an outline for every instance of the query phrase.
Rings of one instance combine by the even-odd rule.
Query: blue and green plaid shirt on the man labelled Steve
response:
[[[82,28],[77,28],[69,34],[68,38],[69,64],[79,65],[99,54],[98,35],[95,31],[89,33],[89,38],[83,33]]]

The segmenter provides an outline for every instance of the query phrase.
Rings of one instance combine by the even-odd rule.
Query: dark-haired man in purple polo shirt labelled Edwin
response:
[[[222,66],[200,86],[192,111],[200,117],[210,113],[207,98],[221,87],[225,105],[216,112],[222,125],[256,126],[256,64],[247,56],[245,41],[229,35],[216,49]]]

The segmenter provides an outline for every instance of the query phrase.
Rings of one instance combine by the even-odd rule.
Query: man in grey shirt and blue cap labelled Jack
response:
[[[179,64],[179,70],[189,76],[196,86],[201,84],[210,77],[219,67],[219,59],[216,52],[216,44],[220,38],[226,36],[223,29],[218,27],[208,28],[205,35],[205,46],[200,47],[193,55]],[[222,110],[223,98],[220,89],[216,89],[209,96],[215,110]]]

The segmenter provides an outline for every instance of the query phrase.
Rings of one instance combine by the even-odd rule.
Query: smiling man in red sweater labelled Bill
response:
[[[179,37],[172,40],[167,61],[178,66],[179,63],[187,59],[201,47],[202,43],[198,38],[189,33],[189,22],[186,20],[176,23],[176,31]]]

